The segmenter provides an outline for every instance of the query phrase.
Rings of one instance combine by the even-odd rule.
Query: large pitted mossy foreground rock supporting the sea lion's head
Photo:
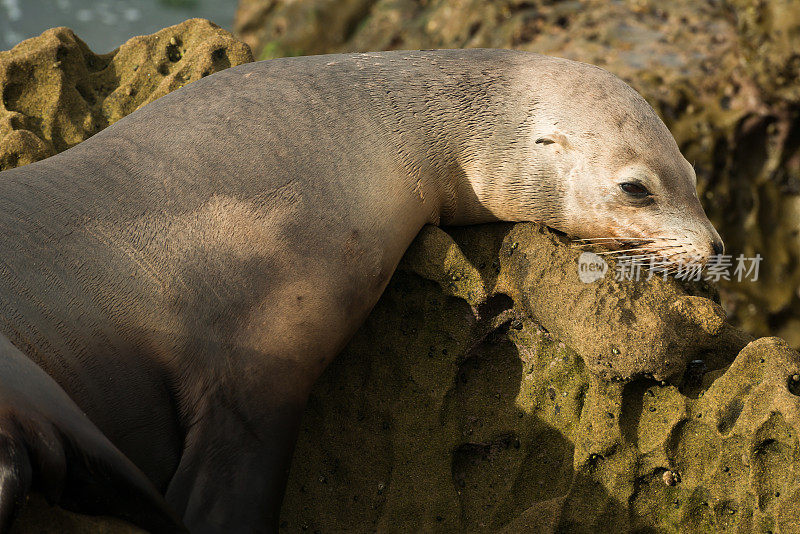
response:
[[[577,282],[580,251],[561,241],[530,224],[423,231],[314,388],[282,531],[792,532],[800,355],[748,344],[674,282]],[[625,324],[604,299],[663,304]],[[572,346],[587,310],[590,337],[627,334],[623,357],[645,321],[667,339],[693,329],[703,348],[672,356],[708,372],[602,379]]]

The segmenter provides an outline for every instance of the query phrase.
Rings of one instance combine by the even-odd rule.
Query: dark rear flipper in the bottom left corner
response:
[[[29,491],[151,532],[186,530],[55,380],[0,335],[0,532],[10,529]]]

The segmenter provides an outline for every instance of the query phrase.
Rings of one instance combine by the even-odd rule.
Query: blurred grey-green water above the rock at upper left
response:
[[[231,29],[238,0],[0,0],[0,50],[68,26],[97,53],[192,17]]]

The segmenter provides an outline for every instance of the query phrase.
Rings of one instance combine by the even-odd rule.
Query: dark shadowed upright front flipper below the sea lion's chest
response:
[[[191,532],[278,532],[305,399],[262,399],[267,415],[255,426],[241,411],[246,402],[213,399],[186,436],[166,496]]]

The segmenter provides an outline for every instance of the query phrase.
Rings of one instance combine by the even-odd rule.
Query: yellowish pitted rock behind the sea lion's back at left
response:
[[[95,54],[68,28],[0,52],[0,171],[80,143],[170,91],[252,61],[247,45],[202,19]]]

